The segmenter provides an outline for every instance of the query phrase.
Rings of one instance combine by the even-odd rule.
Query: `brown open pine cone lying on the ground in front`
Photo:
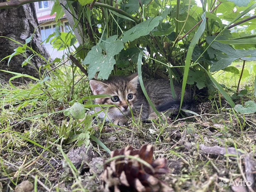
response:
[[[151,145],[143,145],[139,150],[127,146],[121,151],[112,151],[110,161],[101,175],[105,192],[173,191],[157,178],[169,170],[165,158],[153,160]]]

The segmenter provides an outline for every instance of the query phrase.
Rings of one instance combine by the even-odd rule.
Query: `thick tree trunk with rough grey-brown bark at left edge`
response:
[[[5,0],[0,0],[4,2]],[[41,34],[39,32],[38,21],[36,16],[36,10],[34,8],[34,3],[26,4],[18,8],[13,9],[0,9],[0,36],[9,37],[15,39],[16,41],[25,44],[25,40],[34,33],[32,39],[31,47],[38,53],[42,54],[46,59],[49,55],[43,45],[40,45]],[[29,45],[30,45],[29,43]],[[0,37],[0,60],[7,55],[14,52],[14,49],[19,47],[13,41]],[[26,52],[27,57],[31,55],[31,52]],[[38,77],[39,74],[31,66],[27,64],[21,67],[22,62],[25,60],[21,55],[15,55],[7,66],[8,58],[0,62],[0,69],[14,71],[16,73],[28,74],[34,77]],[[41,58],[35,56],[31,59],[31,62],[39,68],[39,66],[46,64]],[[0,82],[8,81],[10,77],[14,75],[0,71]],[[22,81],[23,79],[16,79]]]

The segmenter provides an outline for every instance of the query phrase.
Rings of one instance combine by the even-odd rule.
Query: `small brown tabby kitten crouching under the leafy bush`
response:
[[[90,80],[93,95],[106,94],[112,97],[96,98],[96,104],[116,105],[110,107],[107,112],[107,120],[117,125],[124,125],[128,122],[128,117],[138,117],[142,120],[153,119],[155,112],[150,107],[142,89],[139,85],[138,74],[128,77],[114,76],[107,81]],[[159,112],[171,111],[177,113],[180,108],[181,88],[175,86],[176,100],[172,97],[170,82],[164,79],[151,79],[144,81],[144,86],[150,100]],[[182,108],[187,109],[191,103],[191,96],[185,92]],[[101,111],[101,107],[96,107],[95,111]],[[132,110],[132,113],[131,111]],[[104,118],[105,112],[98,114]]]

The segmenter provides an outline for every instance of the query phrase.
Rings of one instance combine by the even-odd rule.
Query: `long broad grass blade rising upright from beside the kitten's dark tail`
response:
[[[186,89],[186,84],[187,84],[187,79],[188,79],[188,72],[190,69],[190,63],[191,63],[191,59],[192,59],[192,54],[193,54],[193,50],[194,47],[196,46],[197,42],[199,41],[199,38],[202,36],[204,29],[206,27],[206,14],[205,12],[202,15],[202,23],[199,26],[196,34],[194,35],[190,46],[188,47],[188,51],[187,51],[187,57],[186,57],[186,61],[185,61],[185,68],[184,68],[184,73],[183,73],[183,80],[182,80],[182,90],[181,90],[181,103],[180,103],[180,108],[182,107],[182,102],[183,102],[183,98],[184,98],[184,94],[185,94],[185,89]]]

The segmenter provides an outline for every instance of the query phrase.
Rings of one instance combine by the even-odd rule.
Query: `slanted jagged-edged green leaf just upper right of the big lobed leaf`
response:
[[[141,36],[145,36],[150,33],[156,26],[158,26],[159,21],[162,17],[150,17],[148,20],[139,23],[138,25],[134,26],[133,28],[129,29],[128,31],[123,33],[123,43],[128,41],[133,41]]]

